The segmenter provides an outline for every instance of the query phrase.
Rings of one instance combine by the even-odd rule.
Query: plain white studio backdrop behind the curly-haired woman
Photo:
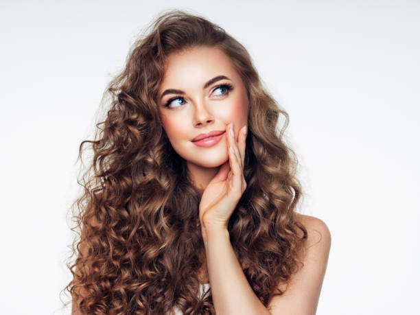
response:
[[[70,314],[78,146],[170,8],[237,38],[290,114],[298,210],[332,235],[317,314],[420,314],[419,1],[161,0],[1,2],[1,313]]]

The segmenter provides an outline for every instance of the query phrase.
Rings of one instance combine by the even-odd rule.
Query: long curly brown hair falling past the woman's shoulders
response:
[[[215,314],[211,290],[198,294],[202,191],[170,145],[157,105],[165,60],[197,45],[222,49],[248,93],[247,187],[228,225],[244,275],[267,306],[302,265],[307,231],[296,214],[302,188],[296,154],[284,140],[288,114],[262,86],[242,44],[202,16],[169,10],[134,43],[106,88],[110,108],[95,139],[80,143],[78,159],[85,144],[93,156],[71,207],[73,280],[63,291],[82,314],[172,314],[175,306]]]

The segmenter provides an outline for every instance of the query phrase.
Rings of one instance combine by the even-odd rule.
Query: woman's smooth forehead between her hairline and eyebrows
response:
[[[221,49],[193,47],[168,56],[159,90],[195,85],[202,87],[203,82],[216,75],[226,75],[232,80],[240,78],[231,59]]]

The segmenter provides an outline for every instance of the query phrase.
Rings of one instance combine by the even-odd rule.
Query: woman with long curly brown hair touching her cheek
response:
[[[94,154],[75,202],[72,313],[315,314],[330,233],[296,213],[288,114],[246,49],[165,12],[107,91],[80,145]]]

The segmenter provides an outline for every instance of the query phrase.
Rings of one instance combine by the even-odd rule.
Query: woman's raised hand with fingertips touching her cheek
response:
[[[203,227],[219,226],[227,229],[229,218],[246,189],[244,159],[246,126],[240,130],[237,140],[231,136],[233,123],[226,125],[226,139],[229,159],[222,164],[218,174],[202,193],[199,206],[200,222]],[[232,146],[233,151],[230,149]]]

